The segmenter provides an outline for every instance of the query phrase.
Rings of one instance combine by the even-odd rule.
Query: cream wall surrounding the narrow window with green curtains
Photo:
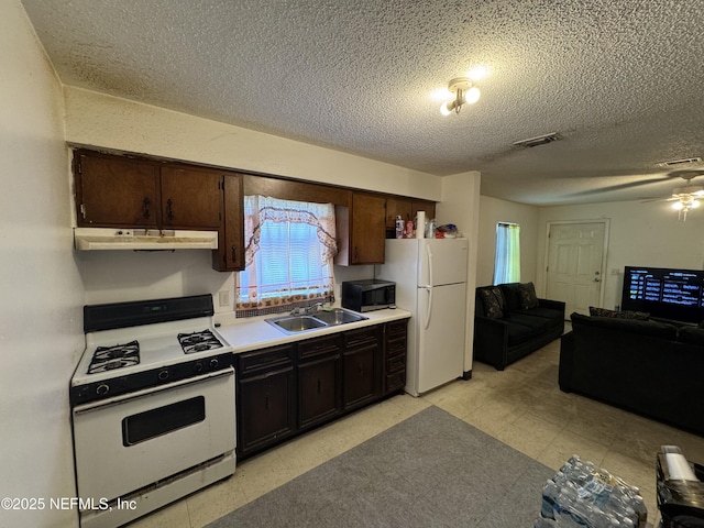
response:
[[[496,255],[496,224],[512,222],[520,226],[520,282],[538,287],[538,246],[544,237],[538,224],[539,208],[488,196],[480,197],[477,286],[492,284]]]

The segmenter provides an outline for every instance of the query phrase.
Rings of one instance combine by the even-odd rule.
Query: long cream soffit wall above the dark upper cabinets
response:
[[[440,200],[441,178],[409,168],[70,86],[65,103],[74,144]]]

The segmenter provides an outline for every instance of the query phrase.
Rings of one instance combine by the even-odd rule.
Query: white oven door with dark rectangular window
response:
[[[233,376],[229,367],[74,408],[78,495],[112,501],[233,452]]]

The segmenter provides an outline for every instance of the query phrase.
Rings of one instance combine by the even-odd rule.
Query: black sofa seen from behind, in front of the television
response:
[[[560,388],[704,436],[704,329],[572,314]]]

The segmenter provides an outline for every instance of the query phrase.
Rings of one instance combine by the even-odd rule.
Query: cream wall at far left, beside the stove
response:
[[[0,0],[0,526],[77,526],[68,381],[84,348],[62,87],[18,0]]]

